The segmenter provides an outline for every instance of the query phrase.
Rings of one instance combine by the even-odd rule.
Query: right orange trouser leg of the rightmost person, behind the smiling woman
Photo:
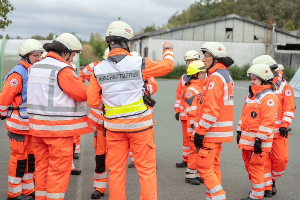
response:
[[[289,161],[288,138],[273,138],[272,154],[270,155],[272,161],[272,180],[275,181],[282,177]]]

